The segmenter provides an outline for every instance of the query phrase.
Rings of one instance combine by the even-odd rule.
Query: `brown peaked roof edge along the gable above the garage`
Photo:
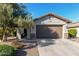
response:
[[[72,23],[72,21],[70,21],[70,20],[68,20],[68,19],[66,19],[66,18],[63,18],[63,17],[61,17],[61,16],[58,16],[58,15],[56,15],[56,14],[52,14],[52,13],[48,13],[48,14],[45,14],[45,15],[40,16],[40,17],[38,17],[38,18],[35,18],[34,21],[37,21],[37,20],[42,19],[42,18],[47,17],[47,16],[53,16],[53,17],[56,17],[56,18],[58,18],[58,19],[60,19],[60,20],[65,21],[65,22],[67,22],[67,23]]]

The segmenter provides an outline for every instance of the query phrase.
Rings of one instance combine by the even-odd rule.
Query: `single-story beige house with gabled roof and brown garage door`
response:
[[[34,19],[35,25],[29,31],[27,30],[27,38],[54,38],[60,39],[65,37],[65,29],[67,24],[72,23],[66,18],[48,13]],[[22,30],[26,33],[26,30]]]

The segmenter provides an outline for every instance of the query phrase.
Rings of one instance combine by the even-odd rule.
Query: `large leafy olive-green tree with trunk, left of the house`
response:
[[[21,4],[0,4],[0,27],[3,28],[3,41],[7,40],[7,29],[31,28],[33,21]]]

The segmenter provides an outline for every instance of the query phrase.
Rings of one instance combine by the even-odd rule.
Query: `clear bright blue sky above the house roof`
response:
[[[33,18],[47,13],[55,13],[73,22],[79,22],[78,3],[27,3],[25,4]]]

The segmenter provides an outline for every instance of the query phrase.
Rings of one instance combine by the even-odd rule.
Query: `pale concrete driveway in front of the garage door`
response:
[[[79,44],[68,39],[38,39],[40,56],[78,56]]]

